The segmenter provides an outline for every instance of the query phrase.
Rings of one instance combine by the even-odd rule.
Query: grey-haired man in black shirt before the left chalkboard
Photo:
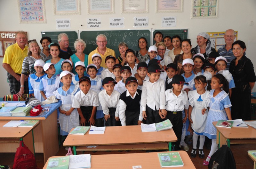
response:
[[[68,41],[68,35],[66,33],[60,33],[58,35],[58,42],[60,45],[60,58],[63,59],[69,59],[71,55],[73,55],[72,50],[70,49],[69,46],[69,41]]]

